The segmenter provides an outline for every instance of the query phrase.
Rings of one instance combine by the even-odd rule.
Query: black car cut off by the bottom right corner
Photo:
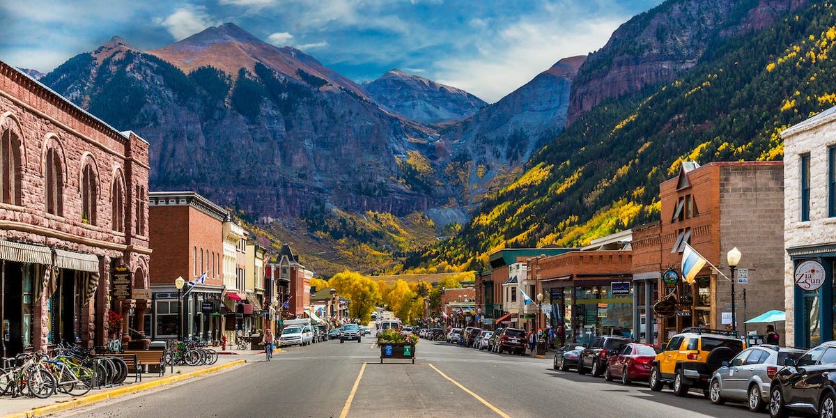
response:
[[[819,344],[798,361],[784,360],[769,387],[769,415],[790,413],[833,416],[836,411],[836,341]]]

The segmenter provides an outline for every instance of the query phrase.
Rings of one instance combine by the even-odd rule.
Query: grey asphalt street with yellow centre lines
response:
[[[380,364],[373,339],[288,348],[246,366],[61,416],[763,416],[551,369],[551,359],[421,341],[415,364]],[[356,384],[356,388],[354,385]],[[699,412],[696,412],[699,411]]]

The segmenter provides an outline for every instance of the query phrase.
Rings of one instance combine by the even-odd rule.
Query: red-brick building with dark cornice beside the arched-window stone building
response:
[[[220,339],[222,237],[229,213],[194,191],[152,191],[148,197],[154,306],[146,314],[145,334],[152,339]],[[185,281],[180,293],[178,277]]]

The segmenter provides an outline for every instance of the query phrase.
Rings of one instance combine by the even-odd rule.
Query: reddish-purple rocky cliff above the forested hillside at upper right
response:
[[[717,38],[767,28],[810,0],[674,0],[619,27],[579,70],[567,125],[606,99],[686,74]]]

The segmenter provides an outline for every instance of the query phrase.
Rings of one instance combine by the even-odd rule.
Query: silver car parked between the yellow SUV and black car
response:
[[[708,397],[716,405],[726,400],[747,402],[749,410],[762,411],[769,405],[769,385],[785,359],[798,359],[802,349],[777,345],[756,345],[744,349],[731,361],[724,361],[711,376]]]

